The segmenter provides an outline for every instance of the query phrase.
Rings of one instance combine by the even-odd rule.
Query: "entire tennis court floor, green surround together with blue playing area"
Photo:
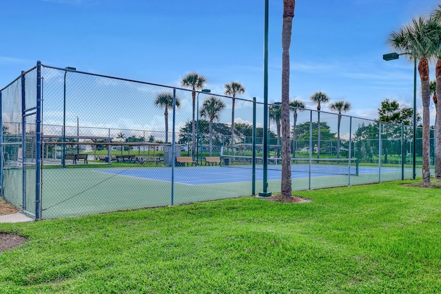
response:
[[[378,167],[360,166],[359,175],[350,177],[293,171],[292,188],[296,191],[378,182],[378,171]],[[409,177],[411,170],[405,173]],[[8,201],[17,206],[21,203],[21,174],[21,169],[8,169],[4,179],[11,195]],[[280,191],[281,171],[269,169],[267,175],[268,191]],[[381,169],[382,181],[400,178],[398,167]],[[263,190],[262,179],[263,170],[256,169],[256,193]],[[170,167],[43,169],[41,180],[43,219],[252,195],[252,169],[243,167],[175,167],[173,193]],[[27,185],[32,192],[34,182],[28,179]],[[34,211],[32,194],[26,204],[27,211]]]

